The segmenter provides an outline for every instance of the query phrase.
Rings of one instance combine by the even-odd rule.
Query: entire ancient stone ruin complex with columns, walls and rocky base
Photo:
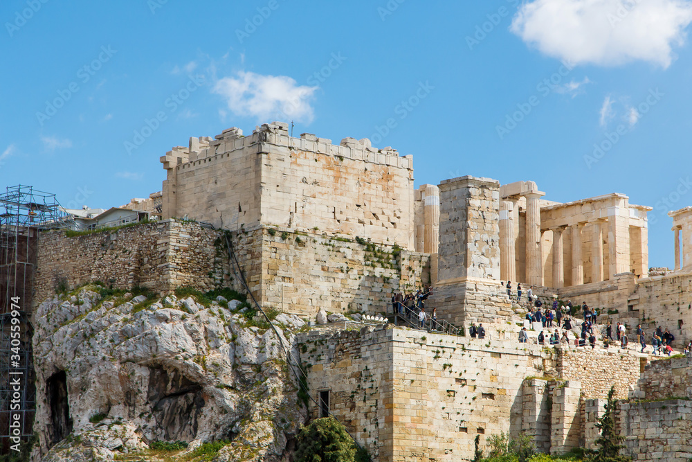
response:
[[[594,447],[611,387],[623,453],[692,458],[690,356],[649,353],[658,326],[675,353],[692,339],[692,206],[669,213],[675,267],[650,272],[652,208],[622,193],[558,203],[534,181],[473,176],[415,188],[411,154],[282,122],[193,137],[160,160],[160,195],[126,206],[147,222],[37,233],[34,460],[112,460],[161,439],[278,461],[328,415],[379,462],[473,460],[475,437],[486,449],[500,432],[563,454]],[[538,344],[543,326],[507,281],[545,305],[597,308],[597,328],[626,324],[630,345],[575,346],[581,310],[568,344]],[[439,324],[420,329],[392,295],[427,287]],[[214,290],[250,298],[199,299]],[[275,326],[247,321],[253,301],[281,313]]]

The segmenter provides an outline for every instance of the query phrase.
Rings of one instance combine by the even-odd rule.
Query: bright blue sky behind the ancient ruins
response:
[[[5,0],[0,19],[2,187],[118,206],[161,190],[190,136],[292,118],[413,154],[416,186],[625,193],[655,207],[650,266],[673,265],[691,1]]]

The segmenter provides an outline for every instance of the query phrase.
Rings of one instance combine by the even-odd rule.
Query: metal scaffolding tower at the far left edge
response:
[[[0,195],[0,452],[33,434],[36,392],[31,306],[37,242],[44,229],[72,228],[54,194],[10,186]],[[17,326],[19,328],[17,328]]]

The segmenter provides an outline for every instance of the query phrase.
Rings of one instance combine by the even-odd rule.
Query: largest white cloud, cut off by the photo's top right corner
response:
[[[666,68],[691,21],[690,0],[533,0],[519,8],[511,30],[574,64],[641,60]]]

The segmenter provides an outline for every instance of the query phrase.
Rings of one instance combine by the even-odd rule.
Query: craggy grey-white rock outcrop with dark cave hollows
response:
[[[153,441],[188,442],[188,454],[226,441],[218,461],[284,458],[307,417],[282,349],[299,357],[290,329],[300,319],[280,315],[277,336],[237,301],[104,301],[101,291],[37,310],[33,461],[145,456]]]

